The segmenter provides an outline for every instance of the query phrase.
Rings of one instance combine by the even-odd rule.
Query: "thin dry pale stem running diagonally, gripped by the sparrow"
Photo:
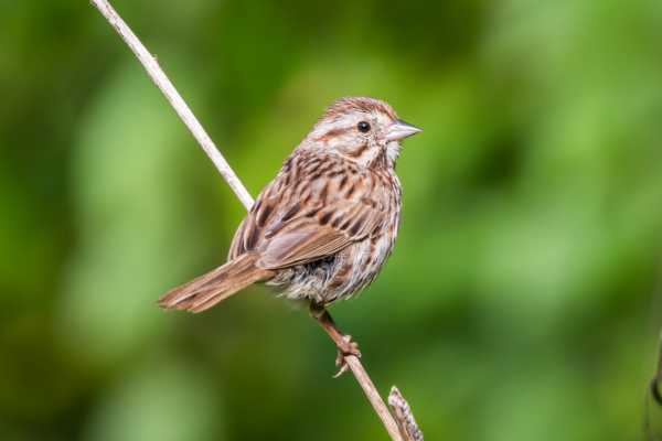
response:
[[[115,28],[117,33],[122,37],[122,40],[128,44],[128,46],[134,51],[140,63],[145,66],[147,73],[156,83],[157,86],[161,89],[166,98],[170,101],[174,110],[178,112],[184,125],[191,130],[193,137],[197,140],[200,146],[202,146],[204,152],[210,157],[218,172],[225,178],[232,190],[235,192],[242,204],[246,207],[246,209],[250,209],[253,206],[253,197],[246,191],[246,187],[242,184],[242,181],[237,178],[235,172],[231,169],[225,158],[221,154],[216,146],[212,142],[212,139],[209,137],[206,131],[202,128],[189,106],[184,103],[181,95],[177,92],[172,83],[166,76],[166,73],[159,66],[156,56],[152,56],[147,49],[140,43],[136,34],[129,29],[129,26],[124,22],[124,20],[117,14],[115,9],[108,3],[106,0],[92,0],[90,2],[94,7],[96,7],[99,12],[108,20],[108,22]],[[365,373],[365,369],[361,365],[359,358],[353,355],[349,355],[345,357],[348,365],[351,367],[352,372],[356,376],[356,379],[363,387],[365,395],[372,402],[375,411],[384,422],[388,434],[394,441],[402,441],[403,437],[399,433],[398,426],[393,419],[393,416],[386,408],[386,405],[380,397],[377,389],[371,381],[370,377]],[[397,390],[397,389],[396,389]],[[402,398],[402,396],[401,396]],[[404,399],[403,399],[404,401]],[[404,401],[406,404],[406,401]],[[408,409],[408,407],[407,407]],[[397,415],[397,413],[396,413]],[[405,438],[406,440],[406,438]],[[423,440],[423,435],[417,440]]]

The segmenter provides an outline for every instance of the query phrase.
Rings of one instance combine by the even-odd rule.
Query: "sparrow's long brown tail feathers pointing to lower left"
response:
[[[274,276],[275,271],[257,268],[258,252],[247,252],[222,267],[191,280],[168,293],[157,302],[164,310],[204,311],[244,287]]]

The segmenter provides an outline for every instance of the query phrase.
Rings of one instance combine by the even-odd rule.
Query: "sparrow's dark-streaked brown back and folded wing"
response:
[[[258,250],[259,268],[278,269],[331,256],[382,225],[380,194],[378,179],[354,164],[289,158],[242,222],[228,258]]]

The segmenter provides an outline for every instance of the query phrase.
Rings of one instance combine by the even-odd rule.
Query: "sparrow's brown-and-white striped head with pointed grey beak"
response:
[[[371,97],[346,97],[324,110],[305,144],[340,154],[363,166],[394,168],[399,140],[419,128],[397,119],[393,108]]]

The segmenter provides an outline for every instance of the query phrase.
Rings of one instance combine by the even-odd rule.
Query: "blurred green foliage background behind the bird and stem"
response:
[[[254,196],[334,99],[423,128],[393,257],[331,312],[426,440],[643,438],[660,1],[113,3]],[[94,7],[0,0],[0,439],[386,440],[306,311],[154,305],[244,214]]]

